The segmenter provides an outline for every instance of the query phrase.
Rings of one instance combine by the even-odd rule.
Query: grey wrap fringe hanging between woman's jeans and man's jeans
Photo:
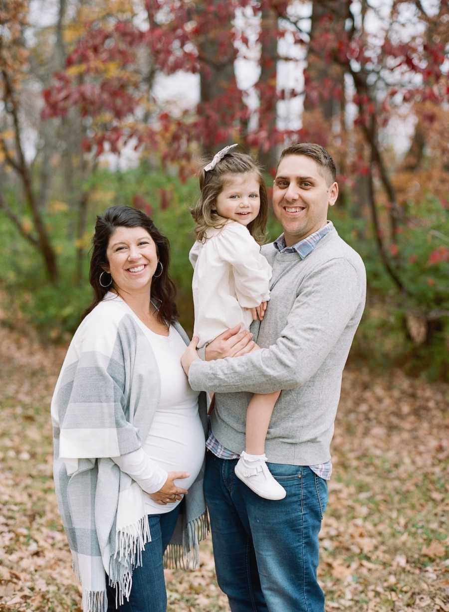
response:
[[[187,537],[183,544],[169,544],[164,554],[164,567],[167,569],[194,570],[200,565],[198,543],[210,531],[208,513],[187,523]]]

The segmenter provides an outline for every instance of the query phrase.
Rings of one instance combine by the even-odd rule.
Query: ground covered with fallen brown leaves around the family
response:
[[[50,397],[64,350],[0,327],[0,611],[80,611],[51,479]],[[345,371],[323,521],[326,610],[449,611],[449,389]],[[167,572],[168,610],[228,610],[211,545]],[[282,611],[279,611],[282,612]]]

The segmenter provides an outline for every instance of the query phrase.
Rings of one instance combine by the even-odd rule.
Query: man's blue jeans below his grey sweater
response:
[[[287,491],[260,498],[234,474],[236,460],[208,451],[205,496],[215,567],[232,612],[324,612],[318,534],[327,483],[306,466],[268,463]]]

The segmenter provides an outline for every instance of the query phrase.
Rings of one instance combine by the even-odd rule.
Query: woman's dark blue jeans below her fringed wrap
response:
[[[168,542],[175,530],[179,514],[175,509],[165,514],[149,514],[151,542],[142,551],[142,564],[132,572],[132,587],[129,601],[115,607],[115,589],[107,584],[108,612],[165,612],[167,610],[167,591],[165,590],[164,567],[162,558]],[[106,577],[106,583],[108,578]]]

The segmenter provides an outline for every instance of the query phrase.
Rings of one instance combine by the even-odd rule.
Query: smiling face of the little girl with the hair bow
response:
[[[215,203],[217,214],[249,225],[260,209],[260,184],[255,172],[223,175],[223,188]]]

